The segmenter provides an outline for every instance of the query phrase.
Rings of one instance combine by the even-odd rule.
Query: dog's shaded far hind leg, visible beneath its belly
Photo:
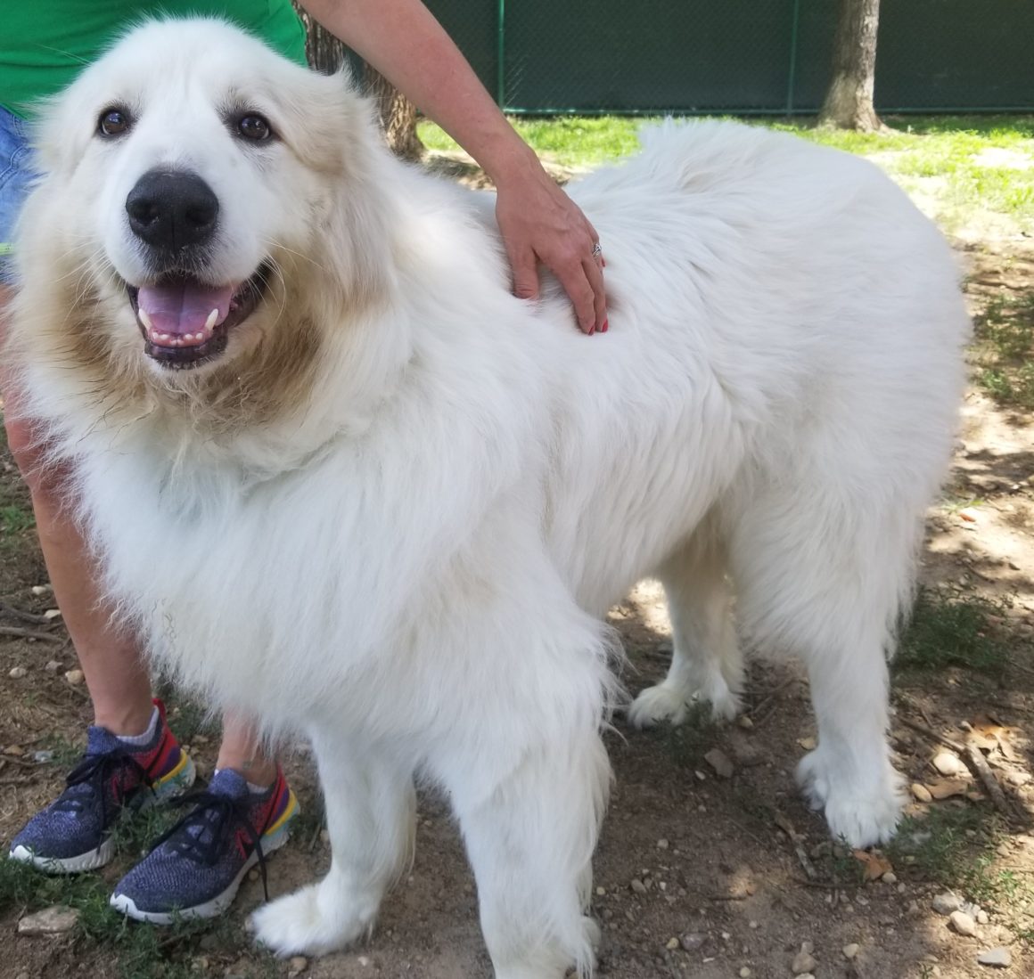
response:
[[[686,721],[691,702],[708,701],[716,718],[739,710],[743,664],[732,621],[726,552],[716,528],[705,526],[659,570],[668,598],[673,653],[664,681],[629,707],[637,728]]]

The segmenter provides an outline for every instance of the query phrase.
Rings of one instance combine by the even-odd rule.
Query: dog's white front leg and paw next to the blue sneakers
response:
[[[252,916],[260,942],[280,955],[321,955],[368,934],[385,891],[408,866],[416,827],[413,771],[368,744],[316,736],[327,806],[330,871]]]

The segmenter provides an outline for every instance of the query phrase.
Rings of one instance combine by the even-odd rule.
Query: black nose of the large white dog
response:
[[[196,174],[152,170],[129,191],[126,214],[142,241],[177,251],[212,237],[219,200]]]

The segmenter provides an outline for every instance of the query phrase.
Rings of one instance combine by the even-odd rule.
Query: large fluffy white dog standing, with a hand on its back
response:
[[[555,282],[511,295],[491,197],[223,23],[134,29],[38,143],[7,356],[108,591],[156,664],[318,762],[331,869],[255,914],[262,942],[370,929],[419,776],[496,977],[591,970],[603,616],[644,575],[674,662],[631,718],[733,715],[737,634],[796,654],[804,791],[852,846],[891,835],[886,656],[968,322],[875,166],[724,122],[646,133],[571,188],[607,257],[586,337]]]

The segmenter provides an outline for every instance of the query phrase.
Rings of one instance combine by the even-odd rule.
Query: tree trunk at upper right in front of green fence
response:
[[[819,125],[861,132],[883,128],[873,108],[879,20],[880,0],[841,0],[833,78],[819,113]]]

